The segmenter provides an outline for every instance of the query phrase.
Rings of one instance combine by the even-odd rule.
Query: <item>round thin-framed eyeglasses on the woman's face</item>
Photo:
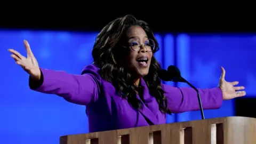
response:
[[[148,39],[144,42],[144,44],[141,44],[139,39],[134,39],[131,42],[129,42],[129,46],[135,52],[138,52],[140,51],[140,49],[143,49],[142,45],[147,49],[148,52],[155,50],[155,42],[153,41],[153,39]]]

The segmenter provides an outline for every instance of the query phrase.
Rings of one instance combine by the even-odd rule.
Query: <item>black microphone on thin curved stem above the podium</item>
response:
[[[169,66],[167,70],[161,69],[158,75],[159,75],[159,78],[162,79],[163,81],[187,83],[190,87],[192,87],[197,92],[197,99],[198,99],[202,119],[205,119],[199,91],[196,89],[194,85],[190,84],[185,78],[181,77],[179,68],[175,66]]]

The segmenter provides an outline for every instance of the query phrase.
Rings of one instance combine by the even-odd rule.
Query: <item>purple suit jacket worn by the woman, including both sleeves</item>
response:
[[[134,109],[127,100],[119,97],[114,86],[103,80],[99,68],[89,65],[83,69],[83,75],[72,75],[64,71],[41,68],[43,82],[35,91],[57,94],[65,100],[85,105],[89,118],[89,132],[125,129],[151,124],[165,124],[166,114],[158,109],[158,103],[149,94],[148,87],[141,78],[141,86],[145,87],[142,109]],[[31,79],[30,79],[31,83]],[[178,88],[162,84],[172,113],[199,110],[197,93],[190,88]],[[204,109],[220,108],[222,92],[219,87],[199,90]],[[137,95],[137,98],[140,97]]]

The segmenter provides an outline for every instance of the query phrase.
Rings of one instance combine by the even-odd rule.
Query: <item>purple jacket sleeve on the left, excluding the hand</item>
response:
[[[39,81],[29,77],[29,87],[38,92],[57,94],[78,105],[88,105],[97,101],[100,90],[95,77],[91,74],[73,75],[65,71],[42,68]]]

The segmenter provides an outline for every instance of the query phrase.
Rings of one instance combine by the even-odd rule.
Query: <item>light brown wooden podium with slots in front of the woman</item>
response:
[[[60,144],[90,143],[256,144],[256,118],[212,118],[60,137]]]

